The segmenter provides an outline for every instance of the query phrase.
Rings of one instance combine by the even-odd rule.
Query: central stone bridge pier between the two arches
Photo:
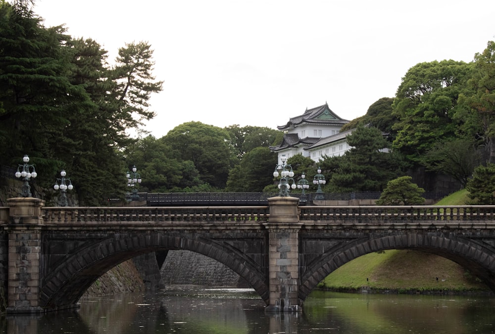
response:
[[[268,229],[269,305],[265,312],[301,312],[299,290],[299,223],[295,197],[268,199],[270,220]]]

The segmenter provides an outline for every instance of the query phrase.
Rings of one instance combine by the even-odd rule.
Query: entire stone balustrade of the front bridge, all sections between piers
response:
[[[1,208],[0,221],[8,220]],[[299,206],[301,222],[495,223],[495,206]],[[268,206],[211,207],[45,207],[45,223],[269,221]]]

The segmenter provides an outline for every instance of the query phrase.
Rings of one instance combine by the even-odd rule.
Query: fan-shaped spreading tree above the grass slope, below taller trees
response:
[[[437,143],[420,158],[426,170],[452,176],[462,187],[466,186],[475,167],[481,164],[478,144],[464,138]]]

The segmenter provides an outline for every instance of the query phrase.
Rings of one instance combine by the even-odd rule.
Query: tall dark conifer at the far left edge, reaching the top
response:
[[[51,188],[64,165],[57,150],[69,115],[95,105],[67,77],[74,64],[64,28],[43,27],[27,3],[0,2],[0,159],[12,165],[29,154],[38,183]]]

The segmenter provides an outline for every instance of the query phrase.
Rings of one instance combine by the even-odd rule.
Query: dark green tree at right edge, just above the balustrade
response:
[[[469,204],[494,205],[495,204],[495,164],[478,166],[473,172],[473,177],[466,184],[469,191]]]

